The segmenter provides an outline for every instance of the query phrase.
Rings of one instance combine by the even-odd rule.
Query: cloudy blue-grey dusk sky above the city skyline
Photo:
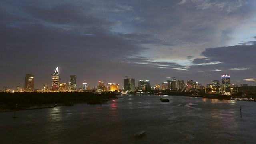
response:
[[[0,90],[77,75],[77,87],[124,76],[151,86],[230,74],[256,79],[256,0],[1,0]]]

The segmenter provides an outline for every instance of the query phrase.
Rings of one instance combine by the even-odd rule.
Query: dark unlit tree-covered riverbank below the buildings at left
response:
[[[22,110],[32,106],[47,106],[50,104],[76,104],[92,100],[116,98],[113,92],[95,94],[91,92],[14,92],[0,93],[0,108],[10,110]]]

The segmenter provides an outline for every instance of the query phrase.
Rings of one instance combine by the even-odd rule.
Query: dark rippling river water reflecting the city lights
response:
[[[14,112],[0,113],[0,144],[256,143],[256,102],[122,97],[102,105],[18,111],[15,119]],[[142,130],[146,135],[135,138]]]

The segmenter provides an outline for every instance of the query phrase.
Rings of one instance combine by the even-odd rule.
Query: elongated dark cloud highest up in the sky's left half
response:
[[[100,26],[103,28],[110,26],[111,22],[87,15],[86,10],[86,7],[75,6],[74,4],[58,5],[48,9],[32,6],[24,7],[24,11],[28,12],[34,18],[53,24],[82,25],[88,27]]]

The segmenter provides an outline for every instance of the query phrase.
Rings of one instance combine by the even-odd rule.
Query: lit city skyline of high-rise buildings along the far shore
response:
[[[32,89],[38,89],[38,90],[40,90],[40,89],[42,89],[42,90],[44,90],[45,89],[45,86],[46,86],[46,84],[42,84],[42,87],[41,88],[34,88],[34,84],[35,84],[35,80],[34,80],[34,76],[32,75],[32,74],[26,74],[26,76],[25,76],[25,84],[24,84],[24,86],[25,86],[25,88],[24,88],[24,90],[26,91],[26,87],[28,87],[28,86],[26,86],[26,85],[28,85],[28,81],[30,81],[29,80],[29,78],[33,78],[33,82],[32,82]],[[121,86],[122,86],[122,84],[124,84],[124,85],[130,85],[129,83],[129,81],[130,80],[132,80],[133,81],[133,85],[135,86],[135,87],[138,87],[138,89],[140,90],[140,89],[147,89],[146,87],[146,85],[148,85],[149,87],[148,88],[153,88],[154,86],[157,86],[157,85],[160,85],[160,84],[154,84],[154,85],[150,85],[150,80],[137,80],[137,82],[138,82],[138,85],[136,86],[135,85],[135,79],[134,78],[127,78],[127,77],[130,77],[130,76],[124,76],[125,78],[123,79],[124,80],[124,83],[117,83],[118,84],[118,87],[119,87],[119,85],[121,84]],[[209,84],[212,84],[212,83],[214,83],[214,82],[216,82],[216,81],[218,81],[220,84],[224,84],[224,86],[231,86],[231,85],[234,85],[232,82],[231,82],[231,80],[230,80],[230,74],[221,74],[221,80],[212,80],[212,82],[208,82],[208,84],[201,84],[200,82],[194,82],[193,80],[187,80],[187,83],[186,84],[188,84],[188,85],[190,85],[190,86],[192,86],[193,85],[193,82],[194,83],[197,83],[197,84],[200,84],[200,85],[202,85],[203,87],[207,87],[207,85],[209,85]],[[172,78],[172,79],[171,79]],[[184,80],[182,80],[182,79],[177,79],[178,81],[176,82],[176,79],[175,79],[176,77],[166,77],[166,82],[162,82],[162,84],[163,83],[166,83],[166,86],[168,87],[168,88],[172,88],[172,90],[175,90],[176,89],[176,86],[177,86],[177,88],[179,88],[179,86],[180,86],[180,80],[181,81],[183,81],[183,83],[184,83]],[[128,80],[128,81],[127,81]],[[127,81],[127,82],[126,82]],[[70,75],[70,82],[59,82],[59,67],[57,67],[56,69],[55,69],[55,72],[54,72],[54,74],[52,74],[52,87],[51,88],[48,88],[48,90],[58,90],[58,88],[59,88],[59,85],[60,84],[68,84],[68,83],[70,83],[70,86],[72,86],[72,89],[73,90],[78,90],[80,87],[78,86],[78,88],[76,88],[76,86],[77,86],[77,84],[76,84],[76,75]],[[74,83],[74,84],[73,84]],[[107,84],[108,83],[108,84]],[[172,84],[171,84],[172,83]],[[86,84],[86,87],[84,87],[84,84]],[[106,81],[98,81],[98,85],[97,86],[92,86],[92,89],[94,89],[94,88],[96,88],[96,89],[98,89],[98,90],[100,90],[100,91],[104,91],[104,87],[105,88],[110,88],[110,85],[111,84],[114,84],[115,85],[115,83],[110,83],[110,82],[106,82]],[[186,85],[185,84],[185,85]],[[255,84],[255,83],[254,83]],[[253,84],[253,86],[254,86],[254,84]],[[172,85],[172,86],[171,86]],[[243,84],[235,84],[235,85],[243,85]],[[248,85],[248,84],[247,84]],[[49,85],[48,85],[49,86]],[[100,87],[99,88],[99,86],[102,86],[102,87]],[[164,86],[164,87],[166,87],[166,86]],[[249,85],[248,85],[249,86]],[[17,85],[16,87],[20,87],[19,85]],[[57,87],[57,88],[56,88]],[[91,87],[90,85],[89,85],[89,87]],[[93,88],[94,87],[94,88]],[[134,90],[135,90],[135,87],[133,88]],[[141,88],[141,87],[143,87],[143,88]],[[213,86],[214,87],[214,86]],[[12,87],[4,87],[4,88],[10,88],[10,89],[12,89]],[[30,88],[30,90],[29,91],[31,91],[32,89]],[[87,83],[82,83],[82,85],[81,85],[81,89],[82,90],[85,90],[85,88],[87,88]],[[120,88],[122,88],[122,87],[120,87]],[[123,89],[125,90],[126,88],[125,88],[125,86],[123,86]],[[129,89],[129,88],[128,88]],[[1,89],[0,89],[1,90]],[[128,90],[129,91],[129,90]]]

